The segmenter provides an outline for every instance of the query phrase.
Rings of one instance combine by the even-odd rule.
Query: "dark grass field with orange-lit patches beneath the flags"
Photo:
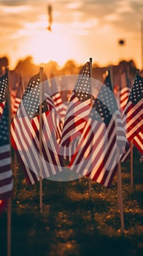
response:
[[[134,148],[135,149],[135,148]],[[43,181],[43,214],[39,184],[28,186],[18,166],[12,197],[12,256],[143,255],[142,163],[134,151],[134,189],[130,162],[121,165],[125,232],[120,230],[117,176],[110,189],[88,178]],[[7,210],[0,217],[0,255],[7,255]]]

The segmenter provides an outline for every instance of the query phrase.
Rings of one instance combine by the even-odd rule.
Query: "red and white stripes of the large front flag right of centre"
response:
[[[92,119],[88,121],[70,166],[71,170],[110,187],[117,171],[116,128],[113,118],[107,127]]]

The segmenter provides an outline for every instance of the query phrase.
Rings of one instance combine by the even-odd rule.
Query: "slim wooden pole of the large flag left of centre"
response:
[[[42,207],[42,80],[43,67],[39,68],[39,209]]]

